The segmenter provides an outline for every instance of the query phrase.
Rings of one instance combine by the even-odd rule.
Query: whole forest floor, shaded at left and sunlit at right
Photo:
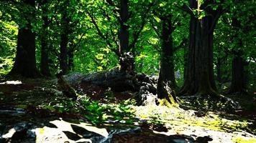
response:
[[[256,142],[255,94],[228,95],[242,106],[235,112],[206,101],[139,107],[132,92],[84,84],[74,102],[48,81],[1,81],[0,142]]]

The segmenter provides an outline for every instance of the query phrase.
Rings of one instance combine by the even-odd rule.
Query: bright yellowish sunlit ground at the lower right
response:
[[[152,124],[163,124],[168,132],[157,134],[185,134],[190,137],[211,137],[212,142],[234,142],[234,139],[253,140],[254,134],[245,132],[250,121],[231,120],[220,117],[214,112],[208,112],[203,117],[197,117],[197,112],[177,107],[165,106],[134,107],[136,116]]]

